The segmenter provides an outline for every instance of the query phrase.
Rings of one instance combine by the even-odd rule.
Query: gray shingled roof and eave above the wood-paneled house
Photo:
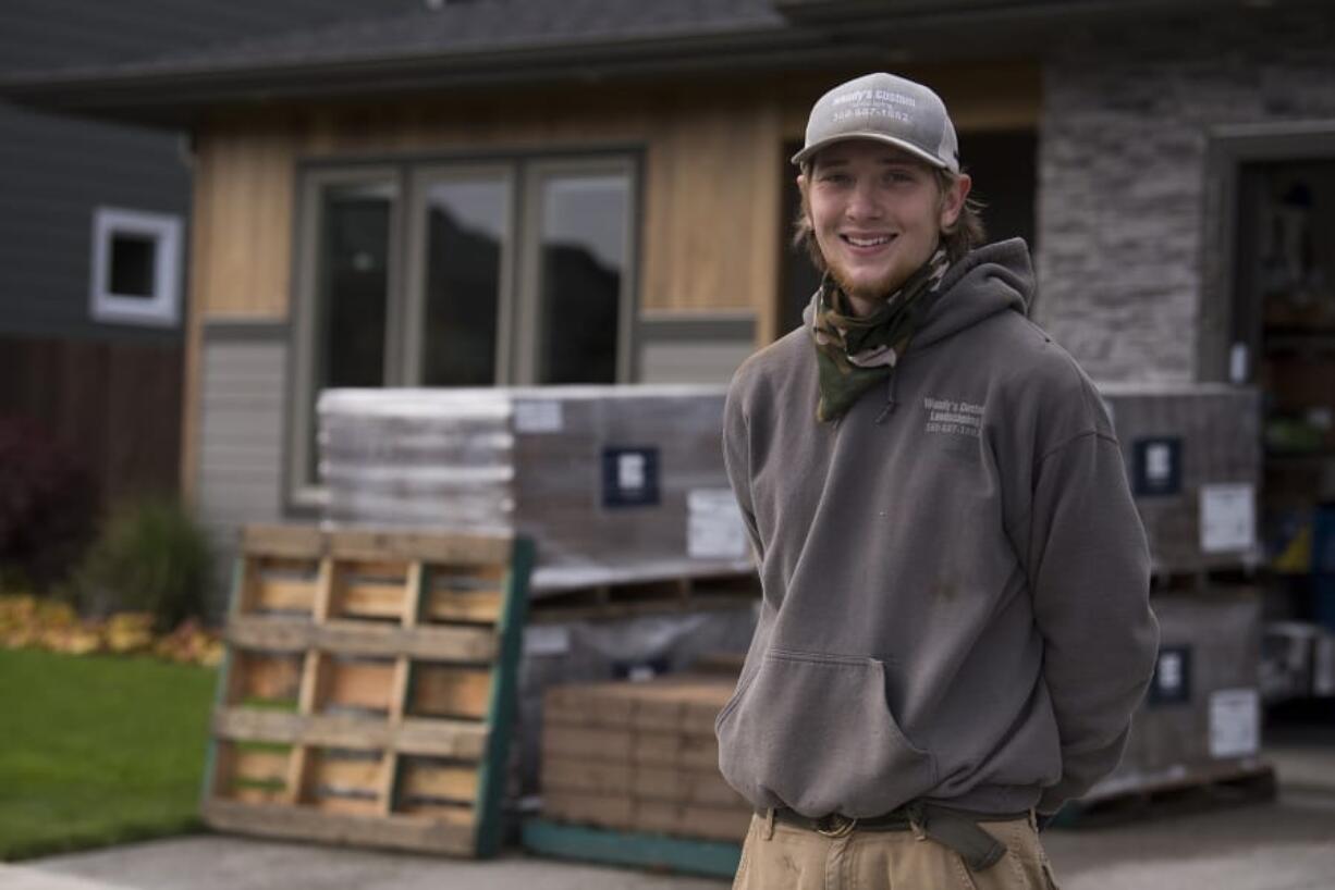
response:
[[[426,3],[427,0],[423,0]],[[850,68],[1041,53],[1071,24],[1202,15],[1238,0],[435,0],[437,8],[147,60],[0,76],[52,111],[179,125],[218,104],[611,73]],[[1314,4],[1316,0],[1288,0]]]

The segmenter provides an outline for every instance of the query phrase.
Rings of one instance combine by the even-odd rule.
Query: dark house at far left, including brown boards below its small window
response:
[[[0,5],[0,67],[105,65],[396,0]],[[180,478],[191,165],[184,131],[0,105],[0,415],[37,420],[105,506]]]

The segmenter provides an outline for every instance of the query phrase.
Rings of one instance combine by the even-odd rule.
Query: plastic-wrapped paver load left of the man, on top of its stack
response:
[[[324,522],[518,532],[534,594],[748,571],[721,387],[328,390]]]

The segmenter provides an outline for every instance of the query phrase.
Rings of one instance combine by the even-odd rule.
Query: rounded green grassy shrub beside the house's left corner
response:
[[[112,512],[75,579],[80,611],[152,612],[159,630],[203,615],[212,579],[208,538],[176,502],[154,498]]]

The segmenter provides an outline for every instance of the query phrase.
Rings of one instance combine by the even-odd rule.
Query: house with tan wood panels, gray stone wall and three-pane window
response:
[[[1312,368],[1268,362],[1256,270],[1307,239],[1291,278],[1332,299],[1332,39],[1298,0],[474,0],[0,95],[191,133],[180,482],[223,532],[318,511],[323,387],[726,380],[810,291],[806,111],[869,69],[945,97],[985,220],[1035,247],[1035,316],[1093,376],[1319,412],[1275,382]],[[1286,328],[1312,372],[1323,319]]]

